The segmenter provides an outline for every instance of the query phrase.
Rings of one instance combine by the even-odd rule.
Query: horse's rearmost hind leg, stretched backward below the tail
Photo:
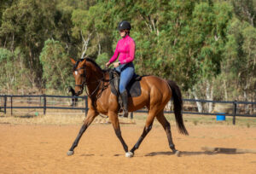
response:
[[[174,146],[174,143],[172,142],[171,125],[167,121],[167,119],[164,115],[164,111],[161,111],[160,113],[158,113],[158,115],[156,116],[156,119],[160,122],[160,124],[164,127],[164,129],[166,131],[166,135],[167,135],[168,142],[169,142],[169,147],[172,149],[172,152],[178,156],[179,151],[177,151],[177,149]]]

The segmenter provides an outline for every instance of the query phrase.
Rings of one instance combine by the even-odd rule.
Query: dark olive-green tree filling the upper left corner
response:
[[[3,12],[0,35],[5,37],[6,48],[14,51],[20,47],[26,55],[25,63],[31,71],[31,78],[38,85],[42,75],[38,58],[44,40],[53,36],[54,20],[55,1],[20,0]]]

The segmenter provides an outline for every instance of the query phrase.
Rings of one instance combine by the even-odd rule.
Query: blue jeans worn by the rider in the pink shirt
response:
[[[119,67],[116,67],[115,70],[120,73],[119,92],[123,93],[131,81],[131,78],[135,75],[133,63],[130,62],[119,65]]]

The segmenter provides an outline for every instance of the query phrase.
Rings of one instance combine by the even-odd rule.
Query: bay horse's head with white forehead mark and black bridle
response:
[[[83,93],[84,84],[86,83],[86,59],[74,61],[73,63],[73,77],[75,78],[75,96],[79,96]]]

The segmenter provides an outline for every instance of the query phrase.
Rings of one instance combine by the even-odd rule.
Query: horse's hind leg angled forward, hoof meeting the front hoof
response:
[[[155,112],[150,112],[148,113],[148,118],[147,118],[147,121],[146,121],[146,125],[144,127],[144,130],[143,130],[143,134],[139,137],[137,143],[134,145],[133,148],[131,148],[131,155],[134,154],[134,151],[137,150],[137,148],[139,148],[140,144],[143,142],[143,139],[145,138],[145,136],[148,135],[148,132],[152,129],[152,125],[153,125],[153,122],[154,122],[154,114]]]

